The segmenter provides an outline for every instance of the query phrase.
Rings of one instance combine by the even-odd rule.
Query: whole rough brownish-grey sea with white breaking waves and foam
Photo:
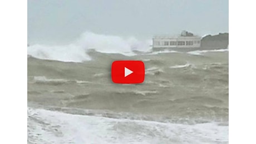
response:
[[[228,49],[152,51],[150,40],[85,33],[27,47],[28,143],[228,143]],[[141,60],[142,84],[114,84]]]

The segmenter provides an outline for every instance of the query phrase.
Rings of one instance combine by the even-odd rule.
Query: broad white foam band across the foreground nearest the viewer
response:
[[[31,143],[228,143],[228,126],[111,119],[28,108]]]

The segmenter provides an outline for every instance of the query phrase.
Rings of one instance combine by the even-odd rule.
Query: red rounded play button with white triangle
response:
[[[145,66],[142,61],[119,60],[112,63],[112,81],[118,84],[143,83]]]

